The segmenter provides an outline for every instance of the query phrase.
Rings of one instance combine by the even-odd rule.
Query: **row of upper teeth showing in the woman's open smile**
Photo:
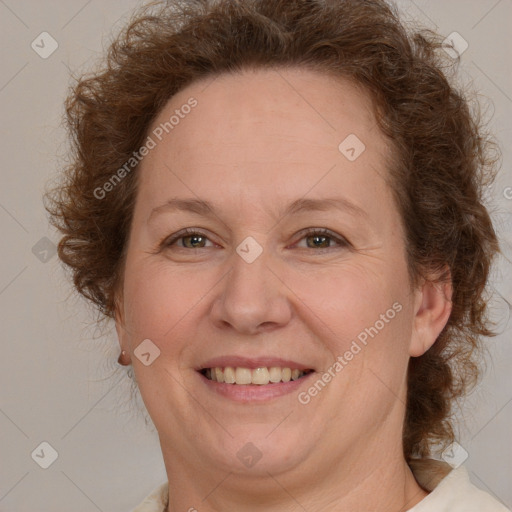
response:
[[[308,372],[271,366],[270,368],[243,368],[237,366],[226,366],[226,368],[207,368],[204,374],[207,379],[227,384],[259,384],[265,385],[269,382],[289,382],[290,380],[300,379]]]

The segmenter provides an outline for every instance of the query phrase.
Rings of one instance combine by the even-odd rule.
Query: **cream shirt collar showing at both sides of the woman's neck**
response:
[[[473,485],[464,466],[452,469],[445,462],[423,459],[411,462],[410,467],[416,481],[430,494],[408,512],[511,512]],[[166,512],[168,492],[166,482],[132,512]]]

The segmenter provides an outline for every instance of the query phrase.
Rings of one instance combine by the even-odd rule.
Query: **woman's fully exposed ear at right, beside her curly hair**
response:
[[[437,340],[452,312],[452,280],[424,281],[415,291],[414,320],[409,355],[423,355]]]

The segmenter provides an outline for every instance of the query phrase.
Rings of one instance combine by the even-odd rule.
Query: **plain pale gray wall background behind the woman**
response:
[[[58,258],[58,237],[41,196],[65,163],[61,127],[70,70],[90,69],[112,29],[140,2],[0,0],[0,510],[130,510],[165,481],[158,438],[131,381],[117,369],[112,326],[100,331],[89,307],[71,292]],[[505,255],[512,259],[512,0],[401,1],[404,15],[469,43],[461,76],[480,92],[503,151],[489,190]],[[41,58],[41,32],[58,49]],[[41,45],[41,43],[39,43]],[[45,51],[50,48],[46,40]],[[43,49],[41,48],[40,51]],[[45,238],[46,237],[46,238]],[[512,507],[512,264],[495,270],[492,363],[467,400],[458,437],[472,481]],[[58,458],[43,469],[31,457],[46,441]],[[41,454],[41,449],[36,453]]]

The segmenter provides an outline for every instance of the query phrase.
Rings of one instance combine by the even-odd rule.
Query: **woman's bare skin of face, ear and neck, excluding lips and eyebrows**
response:
[[[412,508],[427,493],[402,453],[407,364],[446,324],[451,288],[411,287],[392,149],[369,97],[304,69],[224,74],[176,94],[148,134],[192,96],[197,107],[138,169],[116,318],[159,433],[168,510]],[[366,146],[353,162],[338,150],[349,134]],[[173,197],[208,200],[215,215],[152,214]],[[365,213],[283,215],[303,197],[343,197]],[[318,248],[301,233],[310,227],[348,244]],[[206,238],[160,246],[184,228]],[[249,236],[263,249],[250,264],[236,252]],[[217,356],[274,356],[318,378],[394,303],[402,310],[307,405],[295,392],[235,402],[195,370]],[[149,366],[133,355],[144,339],[160,349]],[[250,468],[237,457],[248,442],[262,455]]]

